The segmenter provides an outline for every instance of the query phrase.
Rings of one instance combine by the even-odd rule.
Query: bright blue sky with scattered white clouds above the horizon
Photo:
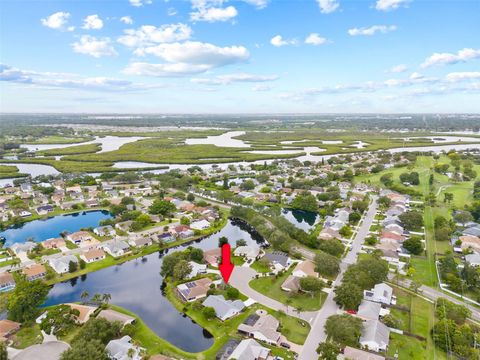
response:
[[[480,0],[0,0],[0,112],[478,113]]]

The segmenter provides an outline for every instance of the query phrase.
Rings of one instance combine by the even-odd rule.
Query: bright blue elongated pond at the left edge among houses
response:
[[[108,211],[84,211],[69,215],[53,216],[46,219],[27,222],[19,227],[12,227],[0,232],[6,240],[5,246],[25,242],[29,238],[44,241],[58,237],[61,232],[75,232],[81,228],[97,227],[100,220],[112,216]]]

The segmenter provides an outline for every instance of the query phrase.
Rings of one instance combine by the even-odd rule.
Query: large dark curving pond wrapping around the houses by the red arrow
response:
[[[162,291],[160,267],[164,254],[183,250],[189,245],[203,250],[213,249],[222,236],[226,236],[232,246],[238,239],[244,239],[248,244],[262,244],[261,239],[255,240],[242,224],[229,220],[221,231],[203,240],[58,283],[50,291],[45,305],[80,301],[84,291],[90,295],[109,293],[113,304],[137,314],[161,338],[185,351],[206,350],[213,344],[212,335],[178,312],[168,301]]]

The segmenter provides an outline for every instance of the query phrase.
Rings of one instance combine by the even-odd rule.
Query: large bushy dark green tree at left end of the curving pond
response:
[[[41,280],[17,281],[7,302],[8,319],[24,323],[37,318],[38,307],[47,299],[49,290],[49,286]]]

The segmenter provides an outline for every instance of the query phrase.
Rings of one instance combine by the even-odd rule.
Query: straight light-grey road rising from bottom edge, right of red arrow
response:
[[[373,223],[376,212],[377,198],[374,197],[373,202],[370,205],[368,212],[365,215],[362,224],[359,226],[358,232],[352,242],[352,249],[343,259],[340,265],[340,273],[335,279],[334,284],[339,284],[342,281],[343,274],[348,265],[354,264],[357,261],[358,252],[362,248],[365,237],[368,235],[368,230]],[[312,360],[318,358],[318,354],[316,352],[318,344],[324,342],[327,338],[327,335],[325,334],[325,323],[330,316],[335,315],[340,310],[338,305],[335,303],[335,300],[333,300],[334,297],[335,294],[332,291],[330,294],[328,294],[327,299],[325,300],[325,303],[320,311],[318,311],[313,324],[311,324],[312,329],[310,330],[307,340],[303,345],[303,349],[298,358],[299,360]]]

